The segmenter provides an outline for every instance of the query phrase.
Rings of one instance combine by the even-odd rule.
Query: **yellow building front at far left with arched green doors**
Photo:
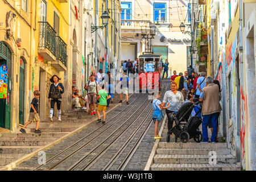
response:
[[[0,1],[0,127],[9,130],[23,124],[30,109],[30,2]]]

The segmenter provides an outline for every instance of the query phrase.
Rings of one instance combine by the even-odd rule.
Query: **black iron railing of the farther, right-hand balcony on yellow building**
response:
[[[56,36],[56,59],[67,67],[67,44]]]

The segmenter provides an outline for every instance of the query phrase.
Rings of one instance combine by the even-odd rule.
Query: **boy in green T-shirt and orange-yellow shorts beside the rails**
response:
[[[101,122],[101,114],[100,111],[102,111],[103,113],[103,121],[102,124],[105,124],[105,119],[106,119],[106,105],[107,105],[107,100],[111,98],[111,96],[109,96],[108,92],[106,92],[106,90],[104,90],[104,84],[101,86],[101,90],[98,91],[98,96],[97,99],[100,100],[100,102],[98,103],[98,109],[97,109],[97,115],[98,115],[98,121],[97,123]]]

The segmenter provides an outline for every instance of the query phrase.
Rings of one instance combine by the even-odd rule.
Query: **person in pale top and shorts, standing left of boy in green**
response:
[[[90,115],[96,114],[96,103],[98,94],[98,82],[95,80],[94,75],[90,75],[90,80],[87,82],[88,86],[88,102],[90,105]]]

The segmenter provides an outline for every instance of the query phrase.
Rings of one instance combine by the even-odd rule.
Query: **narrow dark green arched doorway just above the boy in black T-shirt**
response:
[[[25,63],[20,57],[19,67],[19,124],[24,125],[24,78],[25,78]]]

